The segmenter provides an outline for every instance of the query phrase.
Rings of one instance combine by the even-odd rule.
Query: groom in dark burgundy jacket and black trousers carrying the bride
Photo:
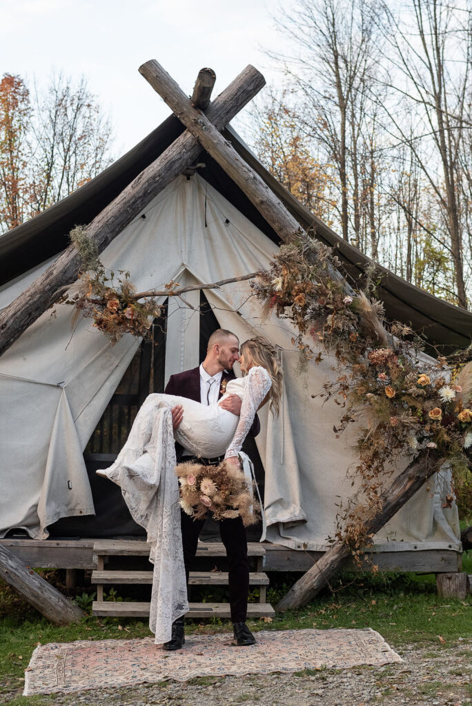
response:
[[[190,400],[201,402],[202,405],[211,405],[217,402],[226,383],[234,380],[235,373],[232,366],[240,359],[240,342],[237,336],[231,331],[218,328],[208,340],[206,358],[198,368],[184,371],[177,375],[170,376],[165,388],[167,395],[180,395],[188,397]],[[237,395],[230,395],[221,403],[223,409],[240,416],[241,400]],[[177,429],[182,421],[182,407],[177,406],[172,409],[172,425]],[[256,415],[249,433],[257,436],[261,429],[259,419]],[[196,460],[205,465],[218,465],[224,458],[196,458],[189,451],[177,444],[177,463],[182,460]],[[199,534],[205,520],[194,520],[181,510],[182,523],[182,545],[184,549],[185,573],[187,575],[187,585],[189,582],[189,570],[196,555]],[[220,534],[225,545],[229,563],[228,583],[230,589],[231,621],[235,641],[237,645],[254,645],[256,640],[254,635],[246,625],[247,616],[247,596],[249,593],[249,561],[247,558],[246,531],[242,524],[241,517],[235,519],[220,520]],[[179,650],[184,643],[184,618],[172,623],[172,639],[165,642],[165,650]]]

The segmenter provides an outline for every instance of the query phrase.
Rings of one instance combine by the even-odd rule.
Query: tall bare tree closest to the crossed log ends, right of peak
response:
[[[338,172],[343,238],[348,239],[352,222],[359,241],[360,140],[370,101],[367,86],[372,84],[378,58],[374,4],[369,0],[299,0],[278,22],[297,53],[271,56],[283,63],[300,95],[303,129],[324,148],[327,162]]]

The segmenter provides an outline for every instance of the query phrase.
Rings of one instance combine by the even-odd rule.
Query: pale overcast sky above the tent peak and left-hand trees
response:
[[[282,0],[285,8],[295,0]],[[270,0],[0,0],[0,75],[44,84],[52,70],[88,79],[110,112],[119,156],[170,113],[138,73],[157,59],[191,93],[203,66],[216,72],[213,95],[253,64],[280,82],[263,47],[281,49],[278,3]]]

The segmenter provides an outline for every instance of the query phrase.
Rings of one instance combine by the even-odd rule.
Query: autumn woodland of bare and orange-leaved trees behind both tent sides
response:
[[[472,301],[472,3],[297,0],[279,70],[237,128],[344,239],[447,301]],[[188,87],[191,90],[191,86]],[[85,78],[0,83],[0,232],[115,156]]]

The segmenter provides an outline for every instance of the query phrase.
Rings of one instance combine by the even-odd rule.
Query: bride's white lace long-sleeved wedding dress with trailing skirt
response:
[[[214,405],[177,395],[154,394],[139,409],[117,460],[102,474],[117,483],[131,516],[147,532],[154,564],[149,627],[155,643],[170,640],[172,622],[189,610],[180,530],[179,484],[175,474],[175,439],[196,456],[235,456],[254,416],[271,388],[266,369],[254,366],[244,378],[231,380],[225,395],[238,395],[240,417]],[[172,431],[175,405],[184,414]]]

